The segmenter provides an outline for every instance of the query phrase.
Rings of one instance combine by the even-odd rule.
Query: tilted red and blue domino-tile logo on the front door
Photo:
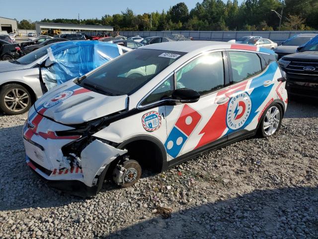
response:
[[[175,158],[180,153],[183,145],[198,125],[201,115],[188,105],[184,105],[181,114],[172,127],[164,143],[167,153]]]

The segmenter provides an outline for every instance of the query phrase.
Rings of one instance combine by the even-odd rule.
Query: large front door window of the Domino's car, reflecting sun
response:
[[[188,88],[200,95],[224,87],[222,52],[196,58],[176,72],[177,89]]]

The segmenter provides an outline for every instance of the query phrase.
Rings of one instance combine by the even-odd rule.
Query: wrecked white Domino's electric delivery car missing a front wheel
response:
[[[224,42],[152,44],[46,93],[23,128],[27,164],[80,196],[105,180],[128,187],[255,135],[278,131],[287,107],[274,52]]]

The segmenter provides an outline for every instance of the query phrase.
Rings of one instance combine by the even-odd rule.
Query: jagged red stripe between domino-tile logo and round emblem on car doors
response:
[[[231,95],[233,93],[237,91],[244,91],[246,85],[247,85],[247,81],[242,82],[241,84],[238,84],[235,87],[231,87],[231,88],[218,92],[215,98],[215,103],[224,96],[231,98]],[[221,137],[222,133],[227,128],[227,124],[226,124],[227,109],[228,109],[228,103],[219,105],[217,107],[212,117],[209,119],[207,124],[202,128],[201,132],[199,133],[199,134],[203,133],[203,135],[198,145],[195,148],[199,148]]]

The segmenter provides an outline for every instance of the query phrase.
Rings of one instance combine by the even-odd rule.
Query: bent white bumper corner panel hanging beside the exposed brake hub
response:
[[[127,150],[115,148],[98,139],[88,144],[80,153],[84,184],[89,187],[95,186],[98,180],[96,176],[99,176],[108,164],[124,153],[127,153]]]

